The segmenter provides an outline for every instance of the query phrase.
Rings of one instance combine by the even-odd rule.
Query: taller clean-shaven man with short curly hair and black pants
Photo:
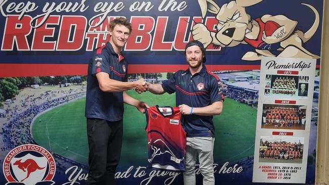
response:
[[[92,53],[88,66],[86,114],[91,184],[112,185],[122,145],[124,103],[144,113],[145,102],[130,97],[125,91],[145,92],[144,79],[128,81],[128,62],[121,50],[132,31],[125,18],[109,25],[110,40]]]

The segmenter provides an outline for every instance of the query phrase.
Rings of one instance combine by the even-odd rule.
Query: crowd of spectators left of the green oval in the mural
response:
[[[81,88],[83,89],[83,88]],[[2,115],[8,122],[4,123],[0,134],[3,137],[3,147],[1,151],[9,152],[11,149],[25,144],[36,144],[30,133],[30,126],[33,122],[33,118],[46,110],[52,109],[56,106],[68,103],[71,100],[83,97],[86,95],[86,91],[78,89],[64,90],[48,90],[42,94],[27,95],[22,94],[23,98],[20,105],[8,106],[5,109],[6,113]],[[58,169],[65,169],[68,166],[79,165],[87,168],[73,160],[67,159],[57,154],[53,154],[56,157],[56,165]],[[69,162],[69,165],[65,162]],[[68,165],[64,167],[65,165]],[[63,171],[61,170],[61,171]]]

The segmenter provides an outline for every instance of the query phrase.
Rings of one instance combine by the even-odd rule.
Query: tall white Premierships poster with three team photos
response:
[[[253,182],[305,183],[315,65],[262,59]]]

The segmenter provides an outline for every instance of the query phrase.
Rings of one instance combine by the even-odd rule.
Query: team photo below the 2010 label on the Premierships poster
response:
[[[289,127],[305,124],[305,109],[297,107],[264,106],[263,124],[275,127]]]

